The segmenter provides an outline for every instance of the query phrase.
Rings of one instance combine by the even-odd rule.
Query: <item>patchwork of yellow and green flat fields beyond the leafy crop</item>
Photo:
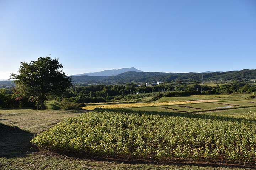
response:
[[[169,112],[195,112],[207,109],[225,109],[234,107],[254,106],[254,99],[250,99],[250,95],[193,95],[184,97],[162,97],[155,102],[137,102],[137,103],[90,103],[86,104],[83,109],[94,110],[95,108],[118,109],[132,108],[133,110],[144,111],[169,111]],[[239,101],[234,101],[239,100]],[[220,103],[212,103],[218,102]],[[223,101],[223,102],[222,102]],[[225,102],[224,102],[225,101]],[[232,101],[232,102],[231,102]],[[209,104],[203,104],[208,103]],[[230,103],[231,102],[231,103]],[[196,104],[201,103],[201,104]],[[211,104],[210,104],[211,103]],[[187,104],[187,106],[183,106]],[[173,105],[182,105],[180,107],[168,107]]]

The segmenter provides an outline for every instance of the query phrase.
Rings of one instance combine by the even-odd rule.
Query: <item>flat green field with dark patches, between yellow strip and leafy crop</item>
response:
[[[239,107],[256,107],[256,99],[208,103],[187,103],[157,107],[139,107],[131,109],[136,111],[141,110],[157,112],[202,112],[204,110],[232,109]]]

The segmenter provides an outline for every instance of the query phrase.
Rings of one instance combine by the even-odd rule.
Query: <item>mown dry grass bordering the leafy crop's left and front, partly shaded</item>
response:
[[[249,109],[249,108],[246,108]],[[250,109],[249,109],[250,110]],[[241,112],[244,113],[245,109]],[[255,111],[255,110],[254,110]],[[222,111],[225,114],[226,111]],[[230,112],[230,111],[228,111]],[[239,114],[237,109],[234,113]],[[37,149],[29,142],[39,132],[47,130],[60,120],[85,113],[84,111],[36,111],[32,109],[0,109],[0,123],[9,131],[0,133],[0,169],[10,170],[59,170],[59,169],[144,169],[144,170],[241,170],[247,165],[226,164],[225,162],[195,160],[143,160],[133,158],[91,158],[87,155],[61,155],[47,150]],[[214,113],[215,114],[215,113]],[[10,125],[10,126],[9,126]],[[14,126],[18,126],[14,127]],[[0,126],[2,127],[2,126]],[[1,136],[2,135],[2,136]]]

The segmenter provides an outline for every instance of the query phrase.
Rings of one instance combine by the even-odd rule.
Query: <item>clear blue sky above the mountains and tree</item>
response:
[[[68,75],[256,69],[256,0],[0,0],[0,79],[49,54]]]

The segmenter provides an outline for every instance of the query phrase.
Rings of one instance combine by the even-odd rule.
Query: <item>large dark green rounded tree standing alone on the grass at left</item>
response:
[[[10,79],[15,79],[15,95],[26,97],[30,101],[41,103],[41,109],[46,109],[44,101],[48,95],[62,95],[70,87],[71,77],[62,71],[58,59],[40,57],[30,63],[21,62],[18,74],[12,73]]]

